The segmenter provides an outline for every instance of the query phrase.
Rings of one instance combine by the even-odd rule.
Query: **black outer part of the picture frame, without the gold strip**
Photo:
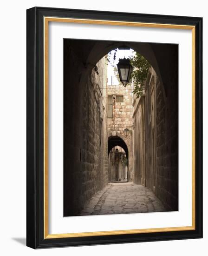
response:
[[[44,16],[195,26],[195,230],[44,239]],[[202,238],[202,18],[33,7],[27,10],[27,246]]]

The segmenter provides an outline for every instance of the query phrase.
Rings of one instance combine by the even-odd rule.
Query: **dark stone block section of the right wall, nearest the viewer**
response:
[[[178,210],[178,86],[177,72],[167,97],[156,83],[156,195],[168,210]],[[175,82],[175,83],[174,83]]]

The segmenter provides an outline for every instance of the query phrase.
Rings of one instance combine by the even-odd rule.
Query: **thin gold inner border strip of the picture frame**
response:
[[[154,228],[154,229],[127,229],[99,232],[48,234],[48,25],[49,22],[70,22],[97,25],[116,25],[133,27],[188,29],[192,31],[192,225],[186,227]],[[126,22],[116,20],[87,20],[44,17],[44,238],[66,238],[84,236],[107,236],[121,234],[141,234],[154,232],[195,230],[195,26]]]

